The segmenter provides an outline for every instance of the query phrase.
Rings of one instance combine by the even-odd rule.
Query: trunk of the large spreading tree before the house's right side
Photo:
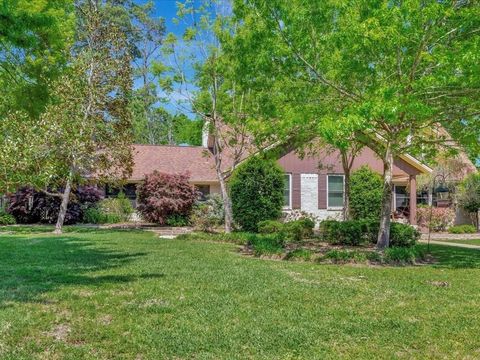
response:
[[[387,144],[383,159],[383,200],[378,231],[377,249],[385,249],[390,244],[390,217],[392,214],[393,193],[393,155],[390,144]]]

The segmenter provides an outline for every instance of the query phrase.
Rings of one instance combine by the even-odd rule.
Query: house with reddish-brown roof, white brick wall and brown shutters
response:
[[[133,145],[133,173],[124,188],[126,195],[135,202],[136,184],[145,174],[154,170],[165,173],[190,174],[190,181],[207,196],[220,193],[220,185],[214,169],[212,139],[204,132],[202,146]],[[344,201],[344,175],[338,152],[325,151],[317,155],[300,157],[295,151],[282,154],[278,163],[285,170],[285,209],[300,209],[318,217],[340,218]],[[228,157],[224,166],[229,166]],[[383,172],[383,163],[375,153],[364,148],[357,156],[353,171],[368,165],[378,173]],[[432,170],[404,155],[395,159],[393,182],[395,196],[394,214],[412,224],[416,223],[417,190],[416,178]],[[106,189],[106,195],[115,195],[116,189]]]

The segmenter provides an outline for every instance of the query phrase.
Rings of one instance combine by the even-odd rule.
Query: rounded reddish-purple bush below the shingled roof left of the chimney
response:
[[[161,225],[173,216],[187,217],[199,195],[188,179],[188,174],[158,171],[147,175],[137,189],[137,210],[145,220]]]

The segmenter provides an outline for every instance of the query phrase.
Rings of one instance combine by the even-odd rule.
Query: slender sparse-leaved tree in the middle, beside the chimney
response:
[[[155,68],[172,102],[201,119],[214,139],[208,156],[214,159],[225,209],[225,231],[230,232],[232,204],[227,179],[252,143],[247,133],[248,112],[257,99],[248,89],[236,87],[229,75],[231,66],[222,56],[220,40],[226,40],[231,31],[230,19],[225,16],[229,4],[205,0],[197,5],[187,0],[178,5],[179,21],[186,21],[186,30],[181,39],[173,34],[166,37],[167,60]]]

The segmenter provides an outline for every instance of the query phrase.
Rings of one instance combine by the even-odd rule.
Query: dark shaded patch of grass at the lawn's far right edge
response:
[[[426,250],[427,245],[423,245]],[[431,254],[437,260],[436,267],[480,268],[480,250],[448,245],[430,245]]]

